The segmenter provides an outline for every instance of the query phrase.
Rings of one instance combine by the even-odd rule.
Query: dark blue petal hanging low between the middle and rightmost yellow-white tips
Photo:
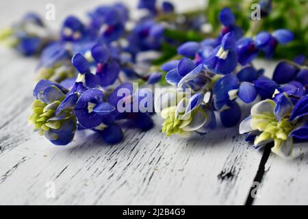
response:
[[[240,122],[241,109],[238,103],[231,105],[230,109],[220,112],[220,120],[224,127],[233,127]]]

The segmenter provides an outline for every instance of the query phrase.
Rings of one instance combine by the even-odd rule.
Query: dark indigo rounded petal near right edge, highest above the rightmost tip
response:
[[[298,70],[298,67],[291,62],[279,62],[274,70],[272,79],[277,83],[288,83],[294,79]]]

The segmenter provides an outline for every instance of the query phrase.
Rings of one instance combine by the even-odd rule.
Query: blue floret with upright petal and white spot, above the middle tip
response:
[[[214,73],[227,75],[238,65],[238,55],[234,51],[235,35],[232,32],[225,34],[222,38],[222,44],[216,47],[207,60],[205,66]]]

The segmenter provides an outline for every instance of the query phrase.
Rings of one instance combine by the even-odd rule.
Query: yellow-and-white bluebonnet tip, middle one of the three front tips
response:
[[[196,93],[191,98],[182,90],[168,90],[155,99],[155,111],[164,118],[162,131],[188,138],[193,132],[201,135],[216,128],[216,118],[203,101],[204,95]]]

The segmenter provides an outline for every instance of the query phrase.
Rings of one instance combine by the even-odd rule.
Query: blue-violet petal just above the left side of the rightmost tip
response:
[[[271,79],[257,79],[253,81],[257,92],[261,96],[261,99],[272,99],[274,91],[279,87],[279,85],[272,81]]]

